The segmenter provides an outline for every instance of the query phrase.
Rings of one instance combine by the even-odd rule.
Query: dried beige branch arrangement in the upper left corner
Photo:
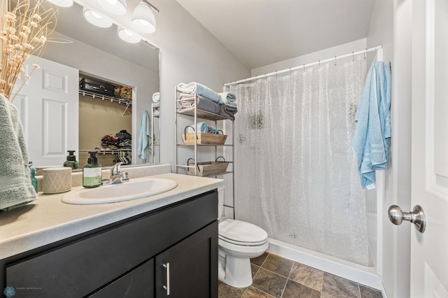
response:
[[[15,8],[10,11],[3,6],[0,19],[0,94],[9,101],[14,99],[10,96],[16,80],[22,76],[19,91],[38,68],[38,64],[33,64],[32,69],[25,73],[25,61],[29,55],[41,55],[48,36],[56,27],[57,8],[44,1],[17,0]]]

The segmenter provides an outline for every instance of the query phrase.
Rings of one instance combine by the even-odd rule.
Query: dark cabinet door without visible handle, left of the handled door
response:
[[[106,287],[95,292],[90,298],[123,298],[123,297],[153,297],[154,296],[154,259],[140,265],[113,281]]]

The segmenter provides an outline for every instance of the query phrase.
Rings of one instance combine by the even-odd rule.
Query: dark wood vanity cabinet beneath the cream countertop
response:
[[[218,297],[216,190],[1,260],[15,297]]]

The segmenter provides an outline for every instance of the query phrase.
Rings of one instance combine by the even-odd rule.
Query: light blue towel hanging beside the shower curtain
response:
[[[367,73],[351,148],[358,159],[361,187],[374,188],[375,171],[388,166],[391,139],[391,64],[375,62]]]

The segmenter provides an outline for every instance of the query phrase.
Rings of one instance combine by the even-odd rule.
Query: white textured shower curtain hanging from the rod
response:
[[[351,150],[363,57],[232,85],[235,214],[269,237],[370,265]]]

